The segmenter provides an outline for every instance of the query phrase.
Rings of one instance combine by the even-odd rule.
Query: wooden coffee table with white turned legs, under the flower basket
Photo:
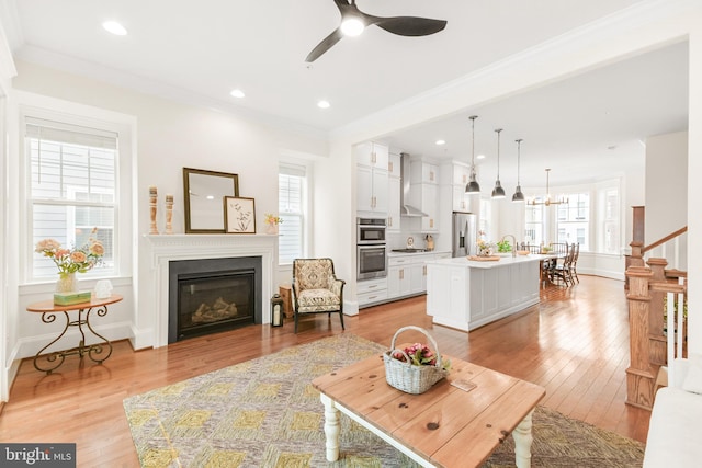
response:
[[[325,406],[327,460],[339,458],[341,411],[424,467],[479,466],[510,433],[517,466],[531,466],[531,415],[546,390],[446,357],[449,377],[421,395],[387,384],[382,354],[314,379]],[[475,388],[451,385],[466,380]]]

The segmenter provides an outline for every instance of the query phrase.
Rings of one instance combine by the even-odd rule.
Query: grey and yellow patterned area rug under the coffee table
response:
[[[324,409],[309,383],[384,351],[344,333],[127,398],[141,467],[414,467],[343,414],[340,459],[325,457]],[[533,467],[642,466],[638,442],[543,407],[533,424]],[[510,466],[508,437],[485,467]]]

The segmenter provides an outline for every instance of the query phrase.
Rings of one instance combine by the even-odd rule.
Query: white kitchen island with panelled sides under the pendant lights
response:
[[[427,313],[437,324],[469,331],[539,303],[546,255],[465,256],[427,262]]]

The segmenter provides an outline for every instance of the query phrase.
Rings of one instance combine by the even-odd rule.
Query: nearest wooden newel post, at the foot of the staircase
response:
[[[648,351],[650,295],[648,283],[653,272],[645,266],[631,266],[629,278],[629,351],[626,403],[650,410],[654,402],[656,374]]]

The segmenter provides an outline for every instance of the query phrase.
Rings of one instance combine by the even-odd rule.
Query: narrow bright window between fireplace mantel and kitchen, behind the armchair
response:
[[[279,264],[292,264],[305,256],[306,170],[302,165],[281,164],[278,175]]]

